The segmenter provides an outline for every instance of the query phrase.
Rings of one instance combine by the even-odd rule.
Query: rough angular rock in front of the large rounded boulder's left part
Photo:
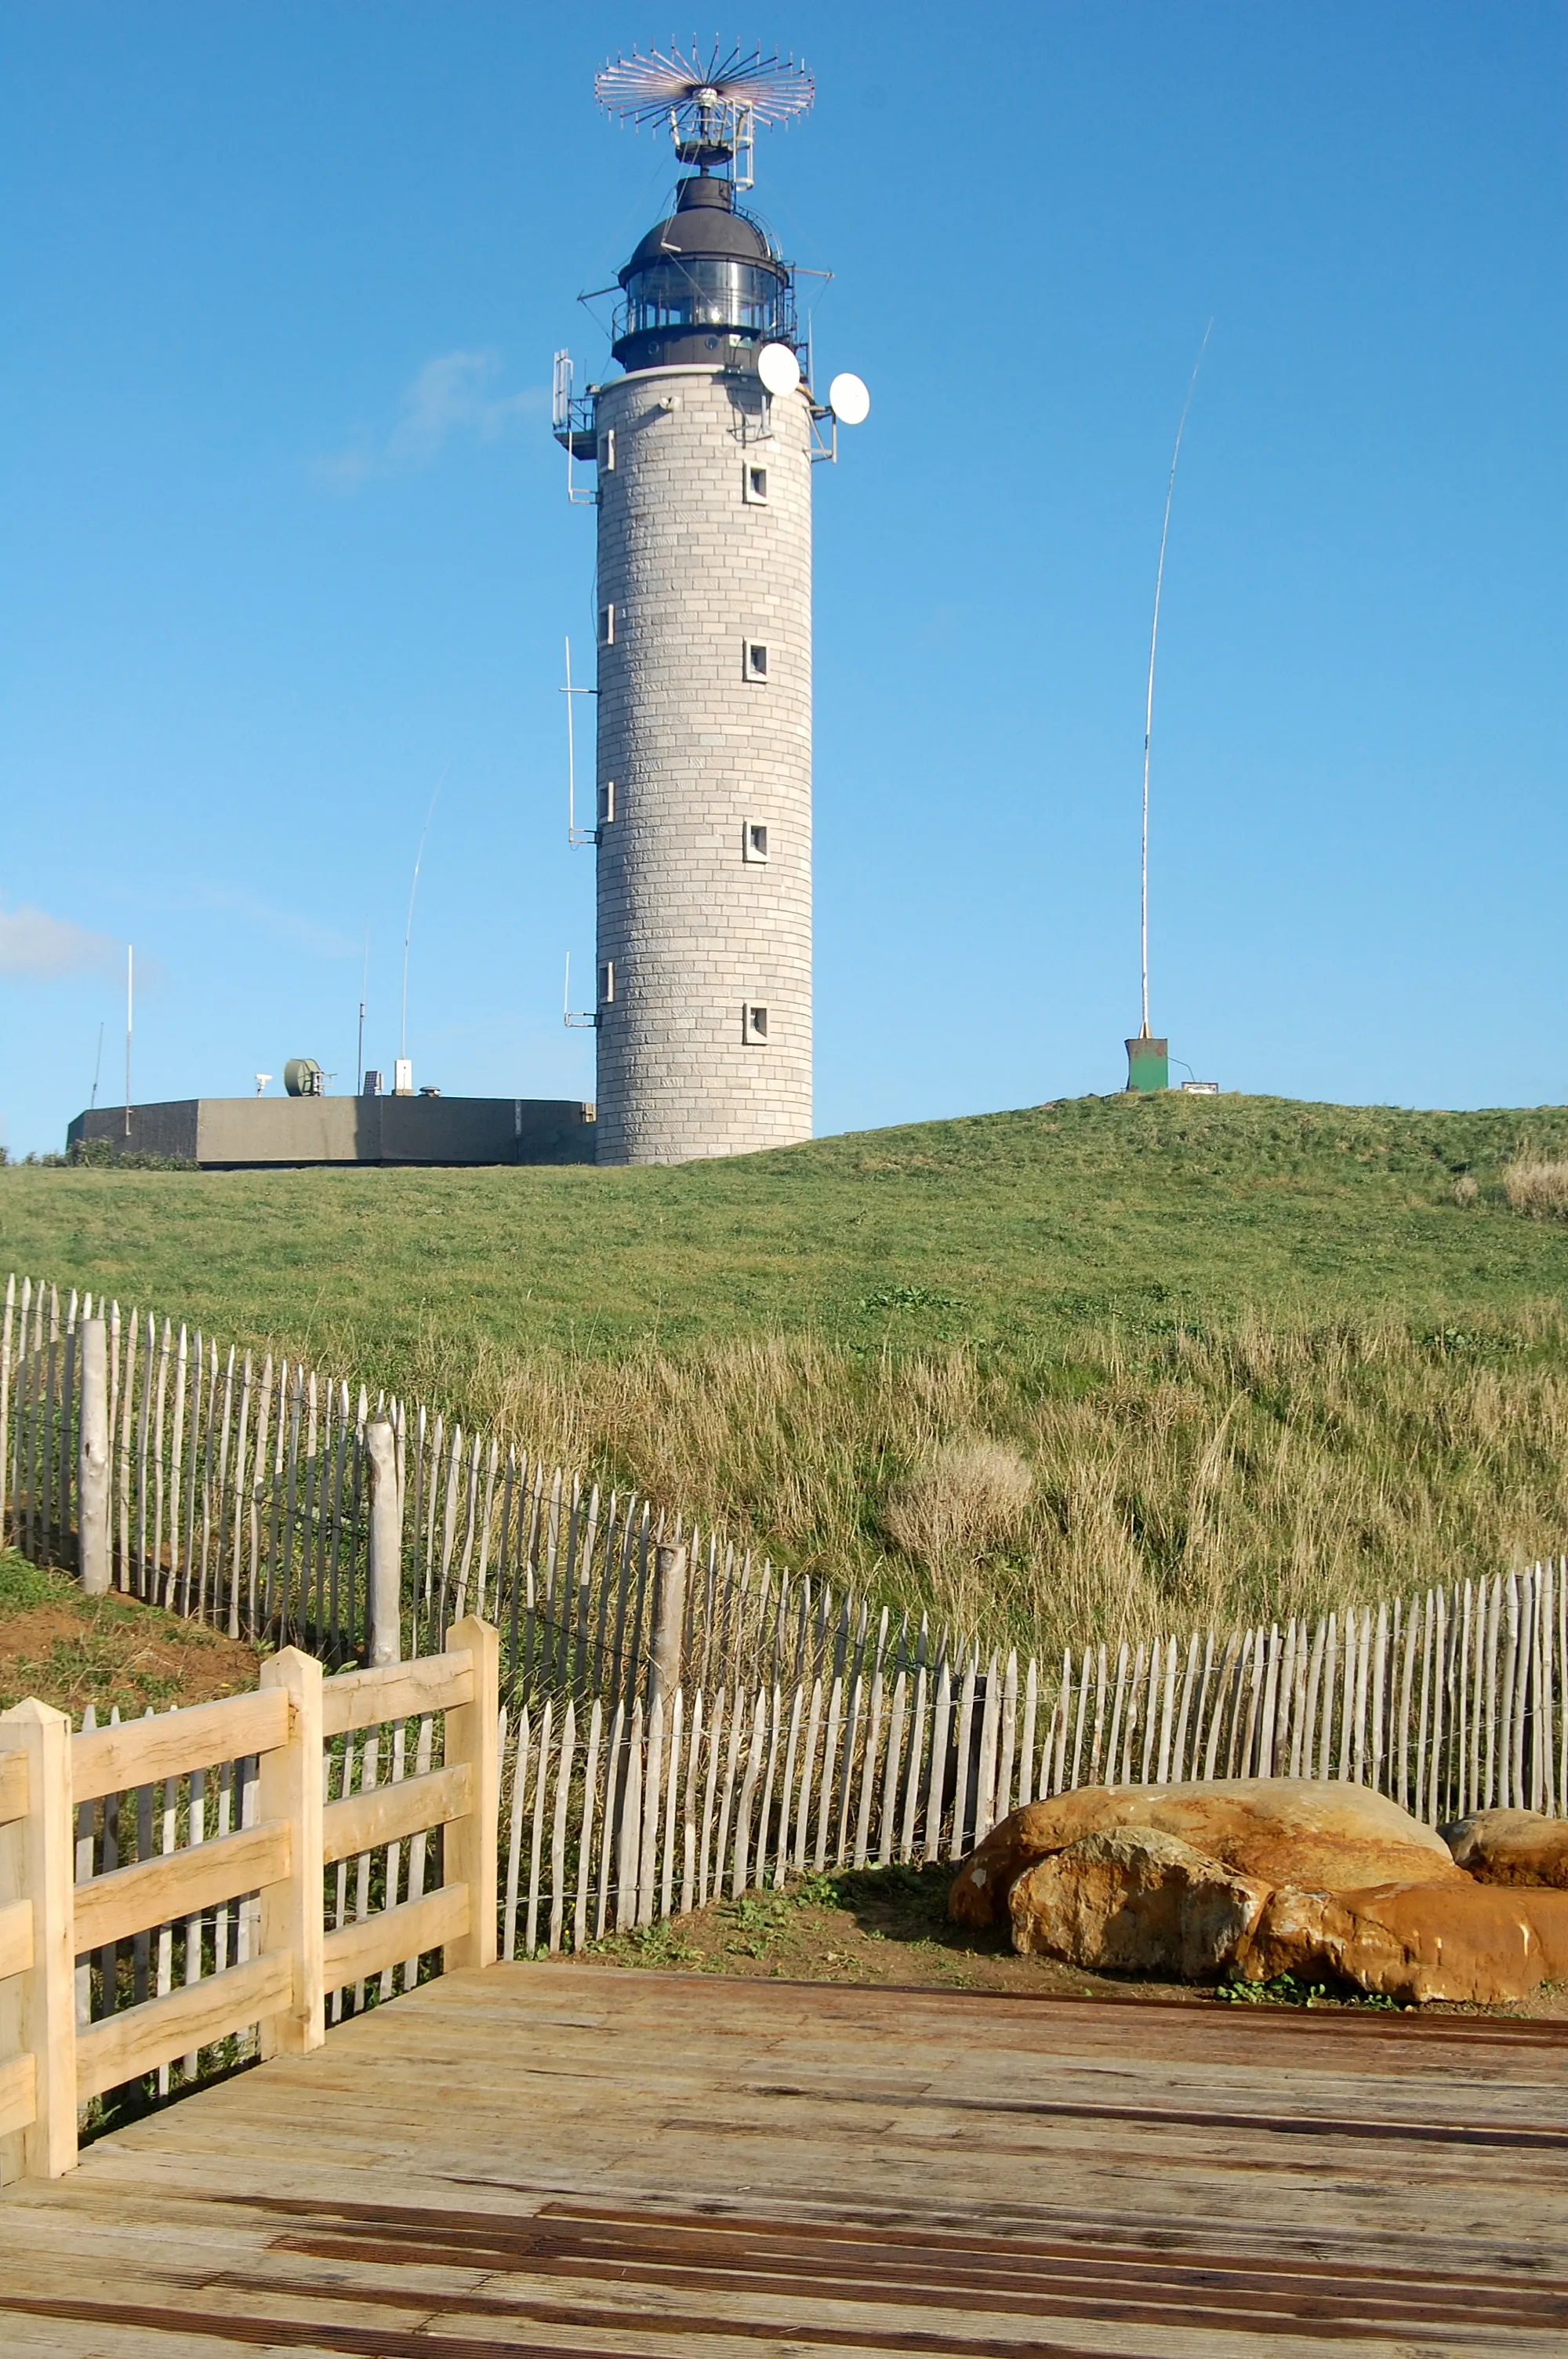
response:
[[[1247,1941],[1269,1885],[1160,1828],[1122,1826],[1035,1861],[1009,1892],[1021,1956],[1200,1982]]]

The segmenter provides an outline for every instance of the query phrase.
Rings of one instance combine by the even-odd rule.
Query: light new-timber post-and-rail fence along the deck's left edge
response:
[[[85,1724],[0,1715],[0,2175],[68,2170],[78,2116],[203,2059],[299,2055],[495,1958],[498,1635],[323,1680]]]

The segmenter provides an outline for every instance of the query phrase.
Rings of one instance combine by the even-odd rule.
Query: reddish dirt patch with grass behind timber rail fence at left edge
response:
[[[137,1597],[83,1597],[68,1573],[0,1557],[0,1710],[38,1696],[80,1720],[207,1703],[257,1684],[262,1649]]]

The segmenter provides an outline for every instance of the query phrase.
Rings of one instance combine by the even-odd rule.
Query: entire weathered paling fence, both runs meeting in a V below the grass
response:
[[[648,1503],[502,1458],[424,1408],[373,1411],[292,1361],[257,1371],[170,1321],[99,1314],[111,1576],[236,1635],[297,1640],[328,1663],[363,1647],[368,1432],[387,1415],[394,1651],[467,1614],[500,1635],[507,1956],[790,1873],[950,1861],[1007,1809],[1073,1786],[1335,1776],[1431,1824],[1488,1805],[1559,1812],[1568,1793],[1556,1559],[1316,1623],[1148,1635],[1049,1663],[981,1656],[755,1571],[714,1533],[681,1538]],[[54,1288],[7,1288],[5,1531],[38,1559],[78,1550],[90,1316]],[[340,1798],[403,1776],[410,1746],[422,1774],[427,1743],[389,1727],[344,1739]],[[137,1857],[160,1807],[134,1802]],[[238,1772],[203,1807],[241,1824]],[[125,1824],[120,1809],[94,1840],[123,1845]],[[153,1974],[151,1958],[132,1977]]]

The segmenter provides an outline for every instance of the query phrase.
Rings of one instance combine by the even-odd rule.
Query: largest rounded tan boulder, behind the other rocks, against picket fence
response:
[[[1448,1845],[1398,1802],[1339,1779],[1207,1779],[1188,1786],[1080,1786],[1014,1809],[962,1861],[948,1913],[993,1925],[1019,1875],[1085,1835],[1146,1826],[1266,1885],[1353,1892],[1384,1882],[1462,1885]]]

